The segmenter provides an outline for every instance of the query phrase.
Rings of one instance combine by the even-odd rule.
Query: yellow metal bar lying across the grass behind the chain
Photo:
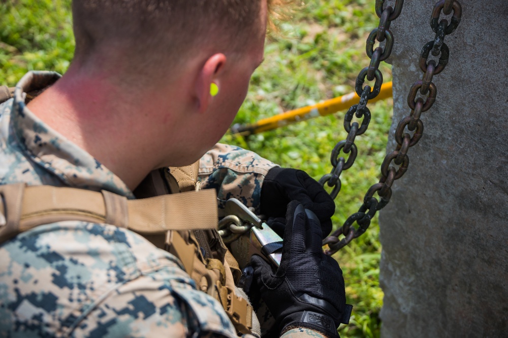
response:
[[[369,102],[384,100],[389,97],[392,97],[392,82],[383,84],[379,94],[375,98],[369,100]],[[290,123],[305,121],[318,116],[334,114],[337,111],[349,109],[352,105],[357,104],[358,102],[360,102],[360,96],[358,96],[356,92],[350,93],[314,105],[286,111],[282,114],[259,120],[255,124],[235,125],[231,128],[231,131],[243,136],[257,134],[278,127],[287,126]]]

